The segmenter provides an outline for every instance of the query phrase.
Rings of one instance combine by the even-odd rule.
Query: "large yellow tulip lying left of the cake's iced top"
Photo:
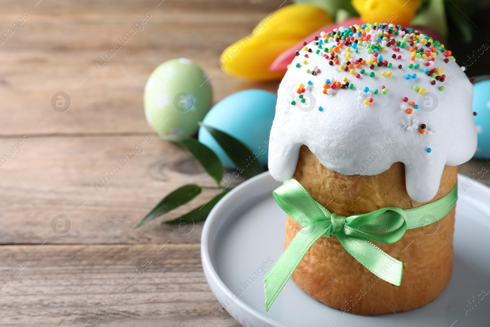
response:
[[[330,23],[330,15],[317,6],[285,6],[267,15],[248,36],[227,47],[220,57],[221,68],[230,75],[247,79],[279,80],[284,73],[269,71],[274,59]]]

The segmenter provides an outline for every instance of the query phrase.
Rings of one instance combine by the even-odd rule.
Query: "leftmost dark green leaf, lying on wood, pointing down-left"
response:
[[[188,184],[176,189],[158,202],[157,205],[155,205],[153,209],[151,209],[150,212],[148,212],[147,215],[134,226],[134,228],[146,224],[150,220],[166,214],[170,210],[191,201],[199,193],[201,193],[201,187],[196,184]]]

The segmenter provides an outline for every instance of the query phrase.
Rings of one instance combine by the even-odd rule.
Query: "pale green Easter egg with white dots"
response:
[[[145,116],[160,136],[196,133],[212,102],[208,76],[186,58],[158,66],[145,86]]]

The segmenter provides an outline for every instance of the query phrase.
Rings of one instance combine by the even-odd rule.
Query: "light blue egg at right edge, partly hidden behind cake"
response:
[[[490,79],[473,84],[473,111],[475,116],[478,146],[474,158],[490,158]]]

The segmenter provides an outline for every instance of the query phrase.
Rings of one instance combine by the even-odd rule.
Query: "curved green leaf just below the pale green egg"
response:
[[[218,156],[211,149],[189,136],[168,135],[163,139],[178,143],[191,152],[206,172],[220,185],[221,179],[223,178],[223,166]]]

